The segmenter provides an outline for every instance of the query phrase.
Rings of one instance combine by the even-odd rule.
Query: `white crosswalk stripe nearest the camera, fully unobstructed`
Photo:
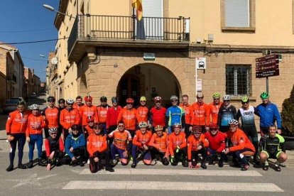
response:
[[[163,186],[164,185],[164,186]],[[190,183],[163,181],[70,181],[66,190],[204,190],[284,192],[273,183]]]

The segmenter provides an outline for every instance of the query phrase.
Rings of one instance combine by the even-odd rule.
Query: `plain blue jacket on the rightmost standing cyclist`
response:
[[[268,102],[268,104],[259,104],[256,110],[260,116],[260,126],[266,127],[274,124],[277,121],[277,128],[281,129],[281,115],[276,104]]]

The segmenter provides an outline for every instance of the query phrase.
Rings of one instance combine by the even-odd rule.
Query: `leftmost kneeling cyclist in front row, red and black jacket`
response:
[[[58,138],[58,127],[51,127],[49,137],[45,138],[45,156],[47,158],[46,170],[51,170],[52,165],[60,166],[64,157],[65,146],[62,138]]]

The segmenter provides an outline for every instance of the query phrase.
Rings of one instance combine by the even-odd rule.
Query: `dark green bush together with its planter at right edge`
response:
[[[290,93],[290,98],[285,99],[281,112],[282,135],[285,138],[287,149],[294,149],[294,85]]]

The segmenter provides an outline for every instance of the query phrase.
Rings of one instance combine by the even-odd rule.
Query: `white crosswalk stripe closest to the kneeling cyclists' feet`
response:
[[[84,169],[80,175],[92,174],[89,169]],[[131,169],[131,168],[114,168],[114,173],[109,173],[105,170],[100,170],[96,174],[111,174],[111,175],[207,175],[207,176],[262,176],[255,170],[202,170],[202,169],[187,169],[187,170],[159,170],[159,169]]]

